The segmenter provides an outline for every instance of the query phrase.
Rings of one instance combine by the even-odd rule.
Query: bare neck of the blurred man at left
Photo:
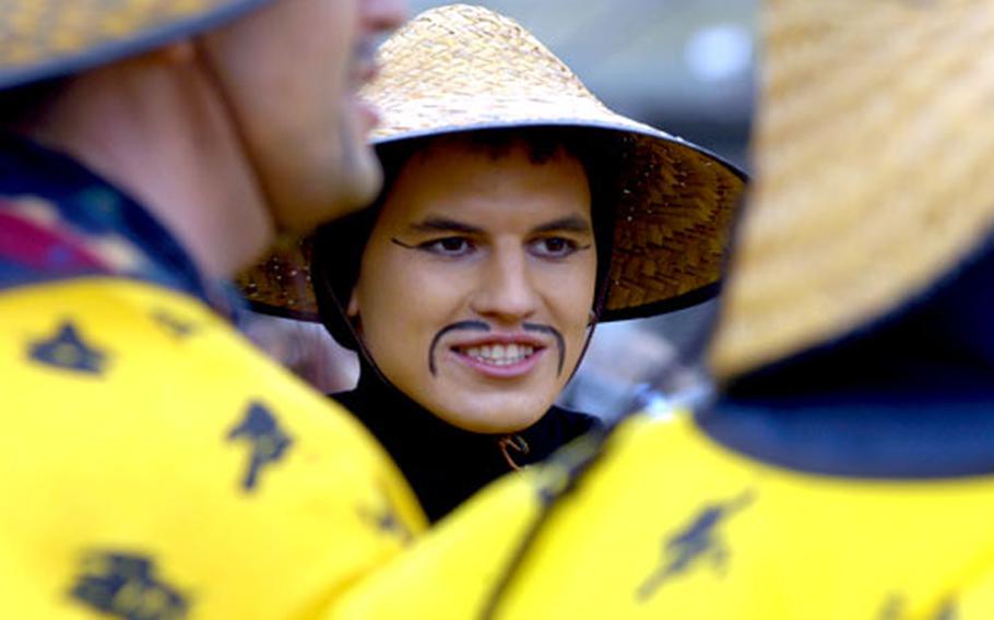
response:
[[[208,275],[233,275],[271,241],[251,166],[196,58],[153,53],[73,79],[29,133],[130,193]]]

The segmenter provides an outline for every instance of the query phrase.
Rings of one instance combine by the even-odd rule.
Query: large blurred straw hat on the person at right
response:
[[[994,5],[774,0],[712,368],[884,320],[994,231]]]

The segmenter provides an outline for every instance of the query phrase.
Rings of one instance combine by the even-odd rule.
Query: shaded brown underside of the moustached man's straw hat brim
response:
[[[608,291],[600,320],[604,322],[672,312],[717,295],[725,255],[729,229],[745,187],[745,176],[717,155],[690,143],[673,139],[652,128],[635,132],[607,123],[487,123],[471,128],[447,128],[412,132],[410,136],[381,138],[389,144],[445,133],[563,127],[625,136],[623,152],[641,166],[628,170],[628,184],[622,189],[614,223],[614,246]],[[695,162],[683,169],[673,162]],[[661,171],[665,169],[666,171]],[[652,182],[647,183],[647,176]],[[711,208],[697,188],[714,192]],[[691,196],[681,196],[688,188]],[[626,193],[627,192],[627,193]],[[238,276],[237,282],[252,307],[259,311],[319,321],[317,300],[311,288],[310,260],[312,237],[285,243],[272,250],[259,265]],[[343,248],[343,252],[351,251]]]

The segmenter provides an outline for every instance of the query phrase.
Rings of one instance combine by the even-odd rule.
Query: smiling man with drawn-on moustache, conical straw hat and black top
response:
[[[301,253],[242,285],[359,354],[335,398],[436,521],[596,426],[554,405],[594,325],[710,298],[744,183],[487,9],[426,11],[378,63],[379,200],[319,229],[309,271]]]

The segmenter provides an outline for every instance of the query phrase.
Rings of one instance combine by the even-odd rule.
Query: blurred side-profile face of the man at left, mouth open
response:
[[[404,0],[275,0],[208,33],[203,49],[276,225],[305,231],[368,203],[380,168],[366,144],[375,111],[374,37]]]

